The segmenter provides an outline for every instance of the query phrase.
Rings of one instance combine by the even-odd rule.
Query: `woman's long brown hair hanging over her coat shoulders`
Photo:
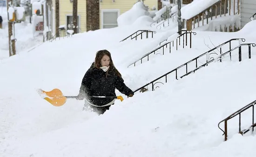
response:
[[[111,57],[111,54],[108,50],[99,50],[97,53],[96,53],[96,57],[95,57],[95,60],[94,60],[94,67],[95,68],[98,68],[100,69],[101,68],[101,59],[103,56],[107,55],[109,57],[109,69],[113,69],[115,71],[115,73],[119,76],[119,77],[122,77],[122,75],[120,74],[120,72],[115,68],[115,65],[112,61],[112,57]],[[109,71],[108,69],[108,71]],[[108,75],[108,71],[106,73],[106,77]]]

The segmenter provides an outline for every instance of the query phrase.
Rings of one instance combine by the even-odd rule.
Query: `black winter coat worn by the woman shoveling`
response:
[[[109,69],[107,77],[106,73],[102,69],[97,69],[93,66],[85,73],[81,83],[80,94],[89,100],[90,103],[97,106],[108,104],[113,99],[95,98],[92,96],[116,96],[115,88],[127,96],[134,94],[125,85],[124,80],[116,74],[115,70]]]

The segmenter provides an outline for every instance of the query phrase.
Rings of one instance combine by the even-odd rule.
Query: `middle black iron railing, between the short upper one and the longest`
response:
[[[182,32],[182,31],[179,31],[178,33]],[[185,45],[186,46],[188,45],[188,34],[190,34],[190,36],[189,36],[189,42],[190,42],[189,47],[191,48],[192,47],[192,33],[194,35],[196,35],[196,32],[192,32],[192,31],[186,31],[185,33],[182,33],[178,38],[176,38],[176,40],[170,41],[166,44],[163,44],[162,46],[157,47],[155,50],[152,50],[151,52],[145,54],[144,56],[142,56],[140,59],[138,59],[134,63],[131,63],[130,65],[128,65],[128,67],[131,66],[131,65],[135,66],[136,63],[139,62],[139,61],[141,61],[141,64],[142,64],[142,60],[144,58],[147,58],[146,61],[149,61],[149,55],[153,54],[153,53],[155,55],[156,52],[158,52],[161,49],[162,49],[162,55],[164,55],[165,53],[171,53],[171,50],[172,50],[171,48],[174,47],[174,46],[176,46],[176,50],[178,50],[178,44],[181,45],[181,38],[182,38],[182,42],[183,42],[182,47],[184,49]],[[162,41],[162,42],[165,42],[165,41],[167,41],[167,39]],[[175,41],[176,41],[176,44],[174,44]],[[160,44],[162,44],[162,42]],[[167,48],[168,48],[168,52],[165,52],[164,50],[167,49]]]

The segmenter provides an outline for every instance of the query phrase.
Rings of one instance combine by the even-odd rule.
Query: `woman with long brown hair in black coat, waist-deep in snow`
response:
[[[85,73],[77,100],[86,99],[85,107],[103,114],[114,104],[115,99],[96,98],[93,96],[116,96],[115,88],[122,94],[132,97],[134,92],[128,88],[115,68],[108,50],[99,50],[92,66]]]

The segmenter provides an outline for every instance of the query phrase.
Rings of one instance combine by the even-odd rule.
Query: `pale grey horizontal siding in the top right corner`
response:
[[[241,27],[243,28],[248,22],[250,17],[256,13],[256,0],[241,0]]]

